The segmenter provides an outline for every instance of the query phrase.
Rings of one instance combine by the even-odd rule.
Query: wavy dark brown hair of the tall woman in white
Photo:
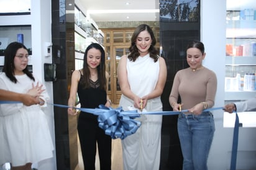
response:
[[[157,55],[158,51],[155,48],[155,44],[157,43],[157,41],[155,40],[155,35],[153,34],[153,30],[147,24],[141,24],[134,30],[134,34],[132,34],[132,38],[130,40],[131,45],[129,47],[130,54],[128,55],[128,58],[130,61],[135,61],[140,56],[139,50],[136,47],[136,39],[140,34],[140,32],[144,30],[147,30],[147,32],[149,32],[150,37],[152,39],[152,44],[150,45],[150,48],[149,48],[149,55],[156,62],[158,60],[158,55]]]

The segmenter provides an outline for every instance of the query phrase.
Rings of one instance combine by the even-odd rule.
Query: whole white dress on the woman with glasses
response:
[[[0,73],[0,89],[26,93],[32,88],[32,81],[26,74],[16,76],[17,83]],[[39,83],[42,84],[42,83]],[[42,87],[45,89],[45,86]],[[49,99],[46,91],[42,99]],[[42,111],[45,105],[25,106],[22,103],[0,104],[0,164],[39,163],[53,157],[53,141],[47,123],[47,115]]]

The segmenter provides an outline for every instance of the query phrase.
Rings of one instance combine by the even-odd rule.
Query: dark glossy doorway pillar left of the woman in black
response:
[[[71,70],[75,69],[75,16],[66,14],[66,10],[75,11],[75,7],[66,3],[66,0],[52,1],[52,62],[57,66],[53,102],[62,105],[68,104]],[[76,117],[68,117],[66,108],[55,107],[54,119],[57,169],[75,169],[78,164]]]

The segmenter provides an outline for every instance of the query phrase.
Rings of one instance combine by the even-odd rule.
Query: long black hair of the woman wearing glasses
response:
[[[20,48],[27,50],[25,45],[19,42],[9,43],[6,50],[4,50],[4,67],[2,68],[2,72],[6,73],[6,76],[14,83],[17,83],[17,79],[14,75],[14,57],[16,56],[17,50]],[[30,79],[35,81],[34,76],[29,72],[27,66],[22,71],[27,74]]]

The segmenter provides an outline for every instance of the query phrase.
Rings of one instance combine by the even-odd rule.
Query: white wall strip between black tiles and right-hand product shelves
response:
[[[224,105],[224,74],[226,54],[226,1],[201,1],[201,41],[205,45],[204,66],[217,75],[214,107]],[[223,111],[214,111],[216,131],[208,159],[209,170],[227,169],[227,155],[232,146],[232,129],[223,128]]]

